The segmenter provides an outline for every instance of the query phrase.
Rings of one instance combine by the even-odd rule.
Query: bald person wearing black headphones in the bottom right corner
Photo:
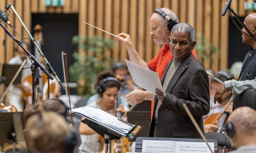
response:
[[[256,153],[256,111],[250,107],[238,107],[222,127],[231,145],[230,153]]]

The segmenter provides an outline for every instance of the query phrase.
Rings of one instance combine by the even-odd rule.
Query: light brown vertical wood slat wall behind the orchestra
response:
[[[244,10],[245,1],[252,0],[233,0],[231,3],[231,7],[240,16],[246,16],[252,12]],[[220,57],[216,54],[211,55],[215,62],[199,59],[204,66],[214,70],[227,68],[229,23],[227,14],[225,17],[221,16],[226,0],[65,0],[63,7],[46,7],[44,0],[0,0],[0,9],[3,10],[9,3],[14,5],[30,31],[33,28],[31,13],[78,13],[79,35],[101,35],[114,39],[116,45],[112,54],[107,56],[112,56],[116,60],[128,58],[124,44],[113,36],[86,26],[83,21],[113,34],[128,33],[140,57],[146,62],[157,55],[162,47],[155,44],[150,36],[151,13],[157,7],[168,7],[176,13],[180,22],[188,22],[195,28],[196,33],[203,34],[210,43],[221,49]],[[9,16],[9,20],[19,34],[28,37],[14,14]],[[5,26],[14,33],[11,27],[7,24]],[[18,35],[14,34],[14,36],[20,40]],[[3,29],[0,29],[0,63],[6,63],[15,56],[15,46],[16,43],[5,34]]]

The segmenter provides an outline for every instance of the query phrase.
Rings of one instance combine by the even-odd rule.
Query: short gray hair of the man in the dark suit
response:
[[[193,43],[195,41],[195,30],[188,23],[181,22],[181,23],[175,24],[175,26],[173,26],[173,28],[172,28],[171,38],[172,38],[172,33],[175,30],[178,30],[178,32],[181,32],[181,33],[184,33],[184,32],[189,33],[190,34],[190,43]]]

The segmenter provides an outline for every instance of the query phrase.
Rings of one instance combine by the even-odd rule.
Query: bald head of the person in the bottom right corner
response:
[[[238,107],[229,116],[236,133],[246,135],[256,135],[256,111],[250,107]]]

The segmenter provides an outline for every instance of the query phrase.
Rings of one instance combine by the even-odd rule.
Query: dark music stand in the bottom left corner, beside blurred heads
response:
[[[0,113],[0,144],[13,143],[14,153],[15,143],[24,141],[22,113],[23,112]]]

